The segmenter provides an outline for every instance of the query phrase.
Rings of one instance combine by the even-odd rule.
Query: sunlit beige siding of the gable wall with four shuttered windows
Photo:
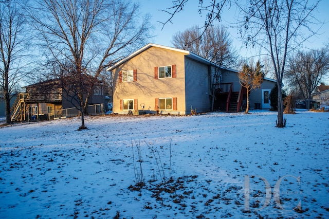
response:
[[[154,78],[154,67],[176,65],[176,78]],[[137,70],[137,81],[119,83],[119,71]],[[137,56],[118,66],[113,70],[114,94],[113,111],[120,111],[120,100],[137,99],[138,109],[142,110],[141,104],[146,111],[156,111],[156,98],[177,98],[177,111],[160,113],[185,114],[185,75],[184,53],[168,49],[150,47]]]

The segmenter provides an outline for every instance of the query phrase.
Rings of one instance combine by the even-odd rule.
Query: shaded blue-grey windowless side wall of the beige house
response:
[[[196,109],[196,112],[211,110],[208,69],[206,64],[190,58],[185,59],[186,112],[188,113],[191,107]]]

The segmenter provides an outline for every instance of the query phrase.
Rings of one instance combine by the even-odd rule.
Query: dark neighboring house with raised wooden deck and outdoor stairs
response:
[[[26,92],[19,93],[11,107],[12,121],[44,120],[77,115],[77,109],[62,92],[57,80],[43,81],[22,88],[26,89]],[[103,85],[99,83],[95,86],[88,105],[101,104],[95,111],[103,112],[104,103]]]

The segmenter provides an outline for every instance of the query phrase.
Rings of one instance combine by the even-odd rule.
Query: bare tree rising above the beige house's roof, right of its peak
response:
[[[202,35],[202,36],[200,36]],[[198,26],[173,35],[172,44],[179,49],[189,50],[216,66],[212,72],[211,93],[212,111],[214,110],[215,88],[220,83],[221,68],[236,65],[237,51],[232,46],[229,32],[223,26],[209,26],[203,33]]]

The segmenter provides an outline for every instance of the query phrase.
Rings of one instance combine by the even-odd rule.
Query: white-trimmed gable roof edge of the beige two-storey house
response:
[[[142,48],[138,49],[137,51],[133,52],[130,56],[127,56],[126,58],[120,60],[119,62],[115,63],[114,65],[112,65],[111,67],[108,67],[106,70],[107,71],[112,71],[113,69],[115,69],[116,67],[118,67],[119,65],[121,65],[122,63],[134,58],[135,56],[137,56],[138,54],[140,54],[141,52],[151,48],[151,47],[157,47],[157,48],[162,48],[162,49],[168,49],[168,50],[172,50],[172,51],[177,51],[177,52],[182,52],[185,53],[187,57],[197,60],[199,62],[208,64],[208,65],[213,65],[213,66],[217,66],[218,65],[214,64],[213,62],[210,62],[209,60],[198,56],[197,54],[187,51],[187,50],[183,50],[183,49],[176,49],[173,47],[169,47],[169,46],[162,46],[162,45],[158,45],[158,44],[154,44],[154,43],[149,43],[145,46],[143,46]]]

